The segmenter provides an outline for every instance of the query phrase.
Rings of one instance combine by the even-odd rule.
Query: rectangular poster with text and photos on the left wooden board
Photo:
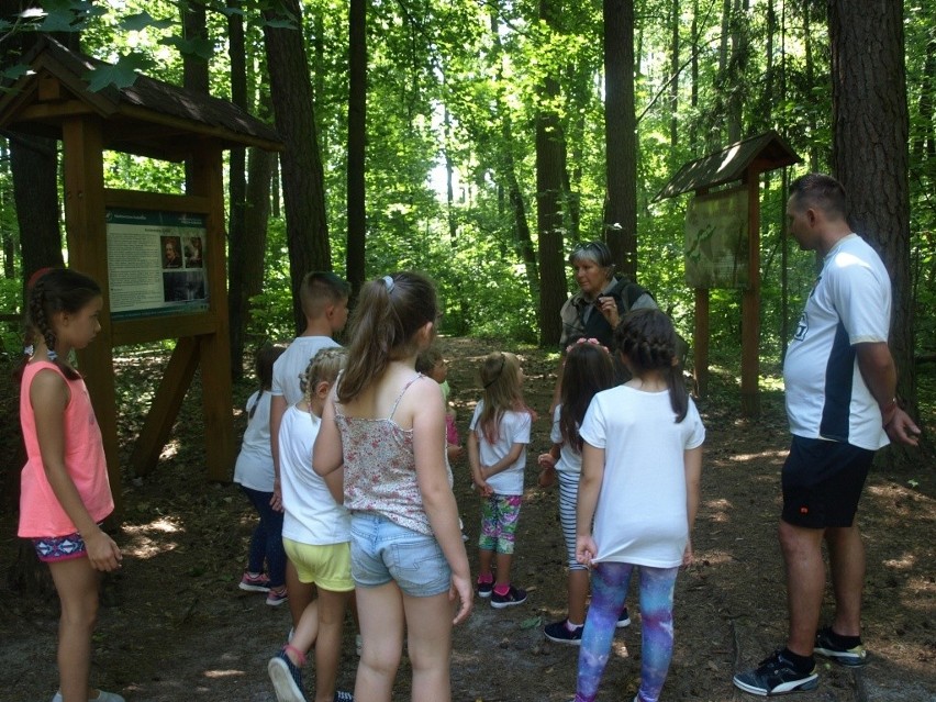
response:
[[[111,319],[204,312],[203,214],[109,209]]]

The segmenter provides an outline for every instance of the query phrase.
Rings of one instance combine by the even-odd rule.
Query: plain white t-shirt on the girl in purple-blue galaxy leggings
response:
[[[683,452],[705,441],[692,399],[677,424],[669,391],[619,386],[594,395],[580,433],[604,449],[593,560],[653,568],[682,564],[689,539]]]

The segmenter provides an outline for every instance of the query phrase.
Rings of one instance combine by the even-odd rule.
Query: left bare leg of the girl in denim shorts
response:
[[[390,702],[403,654],[403,593],[395,582],[359,587],[355,593],[364,650],[357,666],[354,697],[367,702]],[[413,671],[415,675],[415,664]],[[415,684],[413,690],[415,693]]]

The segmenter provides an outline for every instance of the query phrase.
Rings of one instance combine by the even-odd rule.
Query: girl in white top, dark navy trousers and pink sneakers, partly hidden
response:
[[[274,466],[270,453],[270,387],[272,367],[282,356],[285,346],[266,344],[257,352],[256,374],[259,390],[247,400],[247,428],[244,443],[234,465],[234,482],[260,516],[250,535],[247,569],[239,588],[248,592],[269,592],[267,603],[277,605],[286,600],[286,551],[282,550],[282,512],[271,505]],[[264,572],[264,561],[267,571]]]

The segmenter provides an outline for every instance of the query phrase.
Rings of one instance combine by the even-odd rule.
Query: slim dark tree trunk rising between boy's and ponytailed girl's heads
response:
[[[364,285],[367,209],[365,144],[367,140],[367,0],[350,0],[348,14],[348,244],[347,277],[352,297]]]

